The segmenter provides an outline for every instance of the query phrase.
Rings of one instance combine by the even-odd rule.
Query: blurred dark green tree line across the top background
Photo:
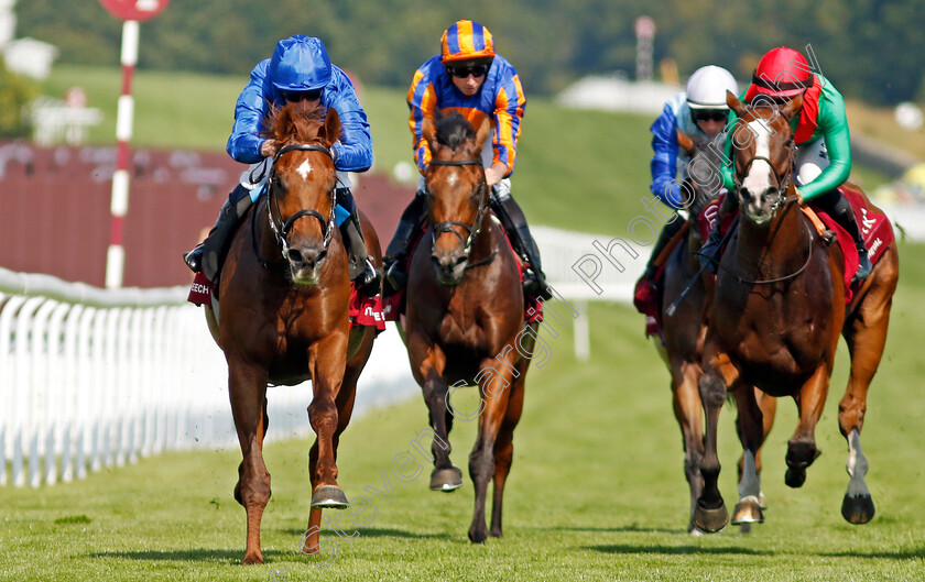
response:
[[[21,0],[18,36],[56,45],[59,62],[118,65],[121,25],[98,0]],[[813,47],[846,96],[874,105],[925,98],[921,0],[172,0],[141,26],[139,66],[247,75],[279,39],[324,39],[333,61],[364,83],[406,87],[443,30],[485,24],[529,94],[552,95],[588,74],[633,76],[635,19],[657,28],[654,61],[682,79],[717,64],[748,79],[774,46]]]

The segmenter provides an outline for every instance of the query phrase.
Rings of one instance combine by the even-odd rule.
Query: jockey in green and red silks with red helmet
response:
[[[851,173],[851,138],[841,94],[830,80],[810,67],[803,54],[782,46],[761,57],[752,83],[739,99],[747,105],[755,99],[785,105],[801,94],[802,109],[799,114],[791,120],[794,144],[797,146],[794,157],[794,183],[804,201],[812,200],[815,206],[828,212],[855,239],[860,262],[856,278],[867,278],[872,265],[863,235],[858,228],[851,205],[838,191],[838,187]],[[733,113],[729,128],[734,123]],[[734,188],[731,153],[731,140],[727,140],[727,164],[722,166],[722,178],[723,185],[730,191]],[[728,204],[723,204],[720,215],[725,215],[736,205],[734,196],[728,196],[726,200]],[[708,243],[700,251],[704,266],[714,272],[720,239],[718,226],[719,220],[710,232]]]

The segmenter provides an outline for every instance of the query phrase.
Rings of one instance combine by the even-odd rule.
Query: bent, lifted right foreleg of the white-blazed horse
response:
[[[806,481],[806,468],[823,453],[816,447],[816,424],[826,404],[830,373],[829,363],[820,362],[809,380],[794,396],[799,419],[796,431],[787,441],[787,472],[784,475],[787,486],[802,486]]]

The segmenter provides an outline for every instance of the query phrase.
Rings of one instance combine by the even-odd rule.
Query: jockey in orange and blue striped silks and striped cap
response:
[[[407,106],[414,158],[421,176],[417,195],[403,212],[387,249],[385,278],[391,290],[394,293],[404,285],[404,262],[426,213],[423,174],[431,161],[431,151],[422,135],[423,121],[425,118],[433,121],[437,112],[456,111],[475,128],[486,118],[491,122],[491,140],[486,141],[482,152],[486,179],[492,187],[491,207],[514,248],[530,264],[525,290],[533,296],[547,297],[540,252],[523,211],[511,197],[509,177],[518,161],[518,138],[526,97],[516,69],[494,52],[494,40],[488,29],[470,20],[460,20],[447,29],[440,39],[440,54],[428,58],[414,73]]]

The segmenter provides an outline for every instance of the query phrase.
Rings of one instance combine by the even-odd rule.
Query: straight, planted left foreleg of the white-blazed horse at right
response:
[[[709,351],[706,353],[710,353]],[[719,428],[719,411],[726,402],[727,386],[738,380],[738,371],[725,353],[705,356],[708,362],[704,367],[698,386],[700,402],[704,405],[706,430],[704,432],[704,459],[700,462],[700,474],[704,477],[704,490],[694,509],[694,525],[707,534],[719,531],[726,527],[729,514],[722,495],[719,493],[719,457],[717,454],[717,431]]]

